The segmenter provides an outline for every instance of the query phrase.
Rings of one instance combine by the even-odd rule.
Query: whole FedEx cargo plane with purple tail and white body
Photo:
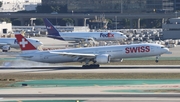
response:
[[[52,23],[47,19],[43,19],[46,29],[48,31],[48,37],[64,40],[64,41],[117,41],[126,39],[126,35],[121,32],[58,32]]]

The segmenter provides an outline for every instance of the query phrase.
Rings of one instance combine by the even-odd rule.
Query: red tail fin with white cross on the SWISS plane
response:
[[[15,37],[22,51],[36,50],[36,48],[21,34],[15,34]]]

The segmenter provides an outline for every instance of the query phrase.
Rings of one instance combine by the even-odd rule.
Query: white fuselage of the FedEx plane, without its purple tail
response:
[[[60,32],[65,41],[79,41],[93,38],[96,41],[117,41],[126,39],[126,35],[120,32]]]

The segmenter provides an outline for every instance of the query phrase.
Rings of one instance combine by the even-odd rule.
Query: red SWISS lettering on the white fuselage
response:
[[[141,52],[150,52],[150,46],[139,46],[139,47],[126,47],[126,53],[141,53]]]

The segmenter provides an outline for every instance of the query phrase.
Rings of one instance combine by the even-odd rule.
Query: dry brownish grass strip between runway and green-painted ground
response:
[[[1,73],[0,79],[15,79],[15,81],[0,81],[0,87],[25,80],[45,79],[180,79],[179,73]]]

